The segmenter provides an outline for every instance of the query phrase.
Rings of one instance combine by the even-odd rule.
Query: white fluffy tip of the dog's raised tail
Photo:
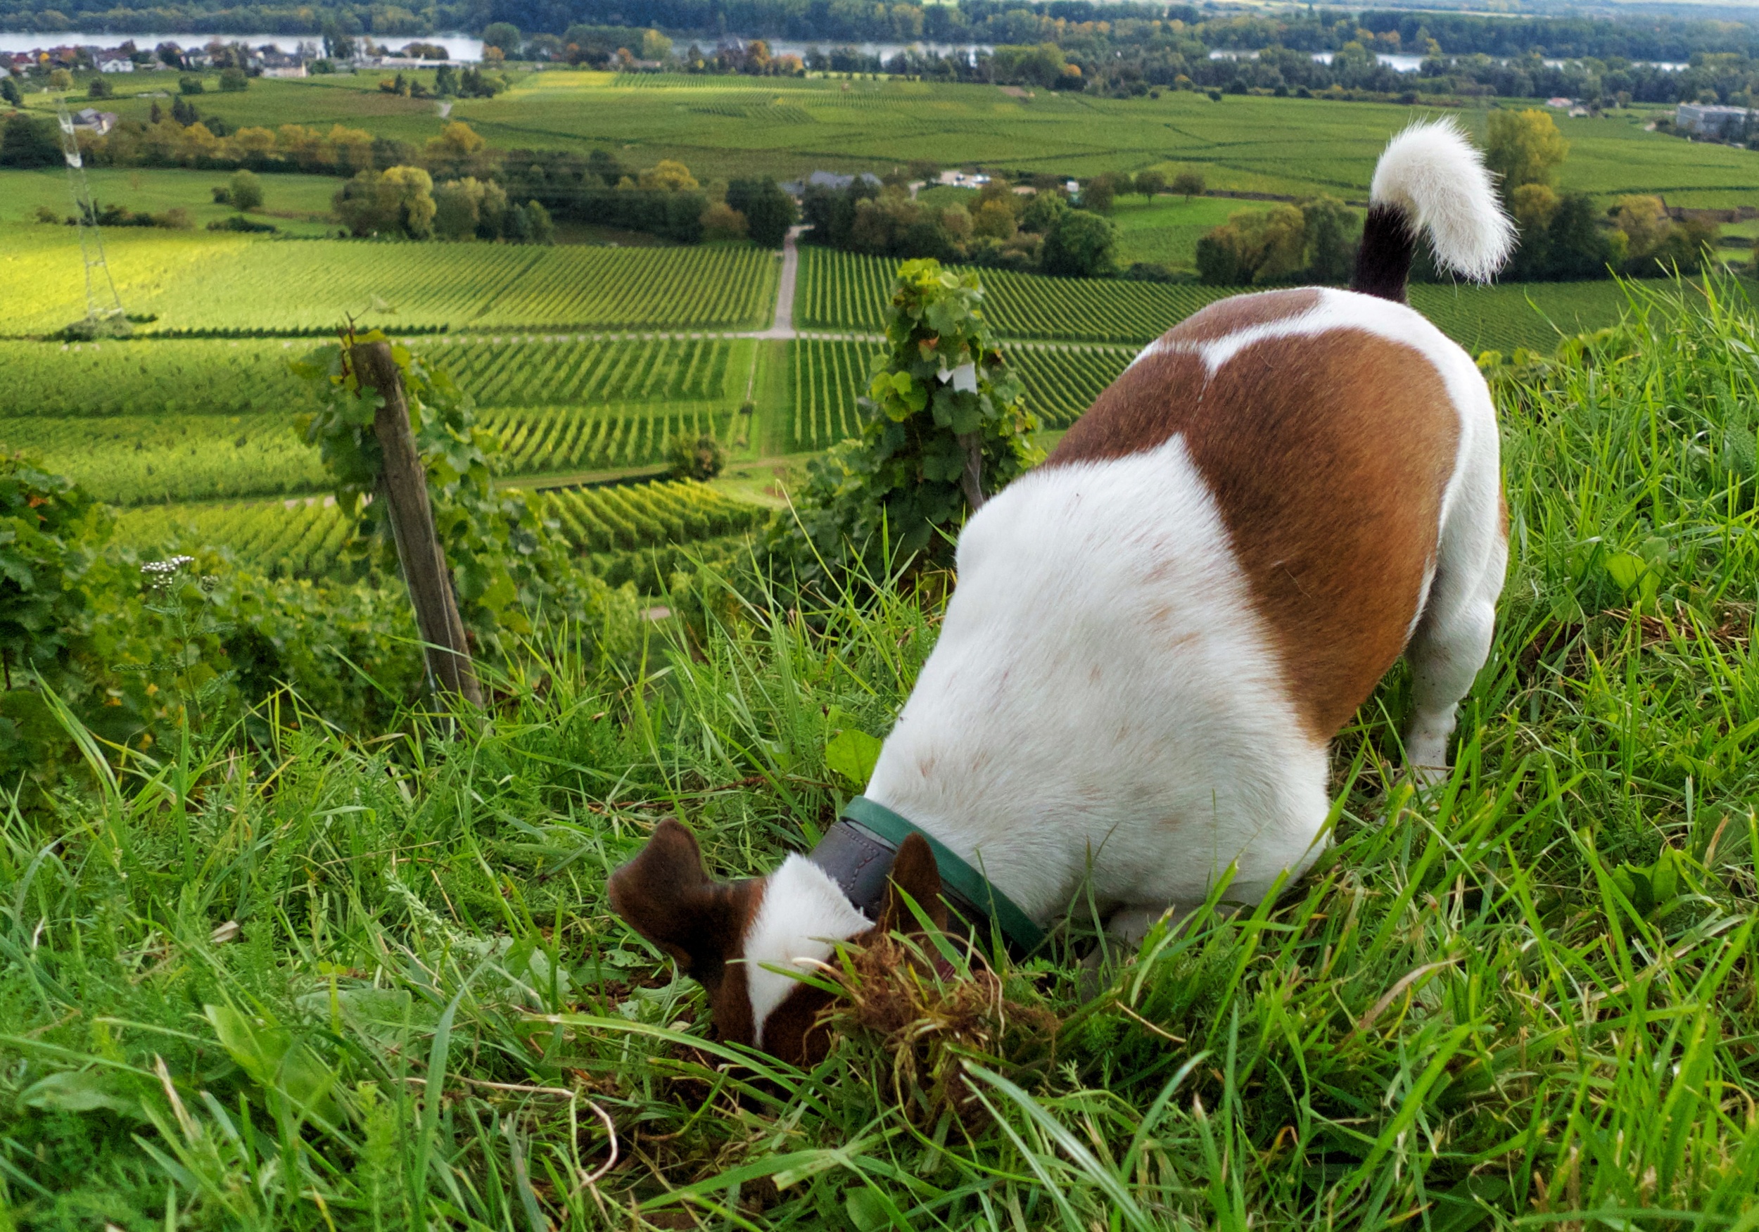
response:
[[[1514,250],[1495,180],[1453,120],[1420,121],[1388,141],[1369,202],[1404,209],[1435,259],[1472,282],[1490,282]]]

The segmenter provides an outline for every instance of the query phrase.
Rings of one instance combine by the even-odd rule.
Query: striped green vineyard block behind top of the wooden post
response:
[[[324,488],[294,431],[311,391],[294,340],[0,341],[0,445],[123,505]],[[647,466],[679,438],[737,436],[755,341],[584,334],[420,338],[501,440],[510,475]]]

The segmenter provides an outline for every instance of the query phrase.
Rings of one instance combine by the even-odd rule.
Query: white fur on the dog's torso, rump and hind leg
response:
[[[1214,380],[1252,340],[1325,345],[1335,329],[1411,347],[1460,415],[1407,648],[1407,760],[1439,767],[1455,704],[1488,651],[1506,565],[1483,377],[1420,313],[1347,290],[1196,350]],[[1233,861],[1228,898],[1238,901],[1300,873],[1317,855],[1326,769],[1214,495],[1173,436],[1152,452],[1033,472],[971,519],[939,642],[867,796],[980,866],[1040,922],[1089,871],[1103,906],[1152,917],[1200,903]]]

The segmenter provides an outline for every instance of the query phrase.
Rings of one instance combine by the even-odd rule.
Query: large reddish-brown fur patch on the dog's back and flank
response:
[[[1360,329],[1261,340],[1208,380],[1196,356],[1164,352],[1119,377],[1047,465],[1175,433],[1215,495],[1303,725],[1330,739],[1404,649],[1435,560],[1460,435],[1441,373]]]

